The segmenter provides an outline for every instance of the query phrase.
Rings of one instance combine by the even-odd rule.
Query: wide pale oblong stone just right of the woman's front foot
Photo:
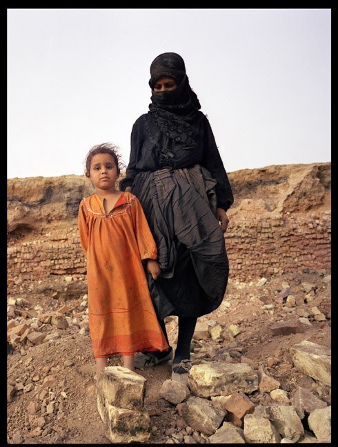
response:
[[[258,375],[247,364],[211,361],[192,366],[188,384],[191,392],[199,397],[227,396],[237,391],[252,393],[258,388]]]

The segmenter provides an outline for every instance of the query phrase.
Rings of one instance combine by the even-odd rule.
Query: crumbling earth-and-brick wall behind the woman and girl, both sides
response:
[[[247,280],[330,268],[330,163],[230,172],[230,275]],[[77,209],[81,176],[8,180],[8,277],[83,275]]]

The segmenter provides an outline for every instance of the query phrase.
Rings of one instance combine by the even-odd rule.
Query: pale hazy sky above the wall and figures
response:
[[[149,67],[177,52],[228,172],[330,161],[331,10],[8,8],[8,178],[128,163]]]

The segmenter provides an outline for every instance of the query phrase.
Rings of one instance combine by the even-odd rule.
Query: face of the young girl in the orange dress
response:
[[[115,159],[110,154],[96,154],[90,162],[89,179],[96,189],[115,191],[119,174]]]

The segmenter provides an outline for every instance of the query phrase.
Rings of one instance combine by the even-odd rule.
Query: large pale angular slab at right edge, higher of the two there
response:
[[[296,368],[331,386],[331,351],[324,346],[304,340],[290,348],[290,355]]]

